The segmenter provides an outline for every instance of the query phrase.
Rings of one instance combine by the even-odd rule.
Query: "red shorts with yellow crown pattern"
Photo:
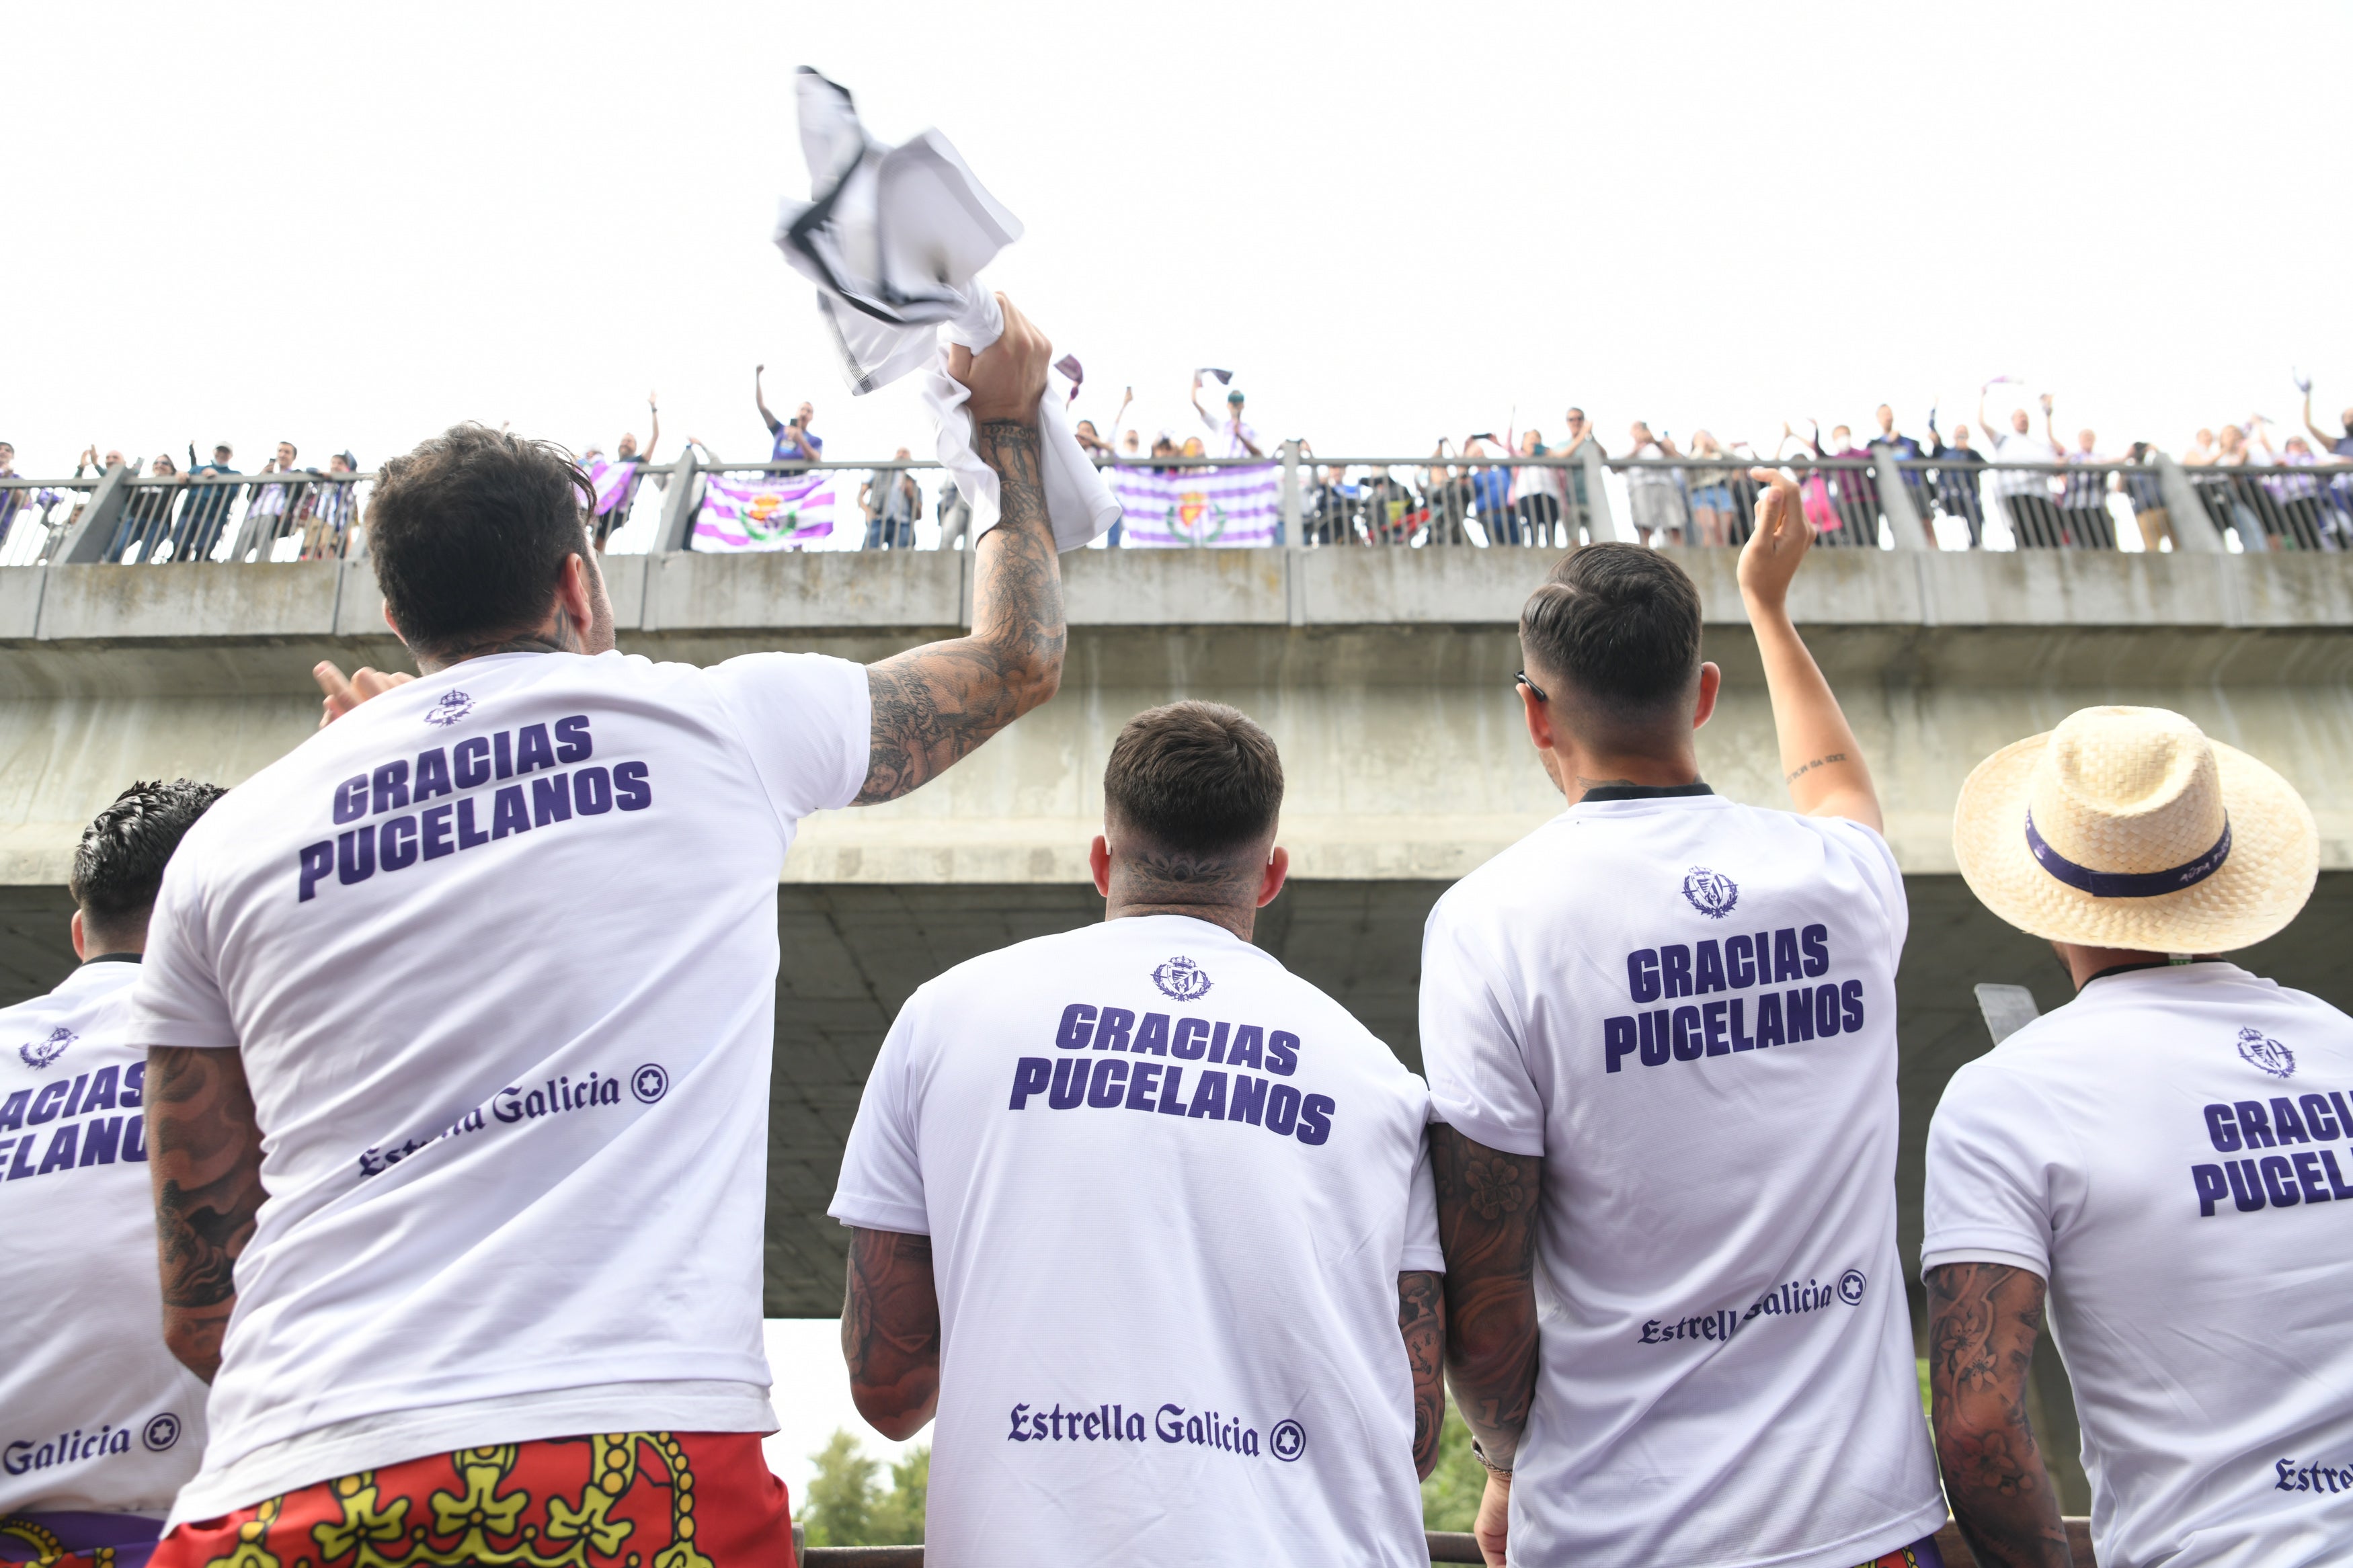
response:
[[[153,1568],[793,1568],[793,1509],[751,1432],[459,1448],[184,1523]]]

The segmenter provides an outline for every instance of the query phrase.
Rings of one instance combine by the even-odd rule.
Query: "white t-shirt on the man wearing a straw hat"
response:
[[[1953,1074],[1920,1269],[2049,1281],[2101,1563],[2353,1542],[2353,1018],[2235,964],[2092,980]]]

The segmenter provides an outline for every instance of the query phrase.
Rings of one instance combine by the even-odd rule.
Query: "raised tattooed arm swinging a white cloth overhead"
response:
[[[929,783],[1061,686],[1061,562],[1045,515],[1038,400],[1054,348],[1005,301],[1005,336],[948,360],[972,400],[974,449],[998,475],[1000,522],[974,548],[972,635],[866,665],[873,752],[856,804]]]

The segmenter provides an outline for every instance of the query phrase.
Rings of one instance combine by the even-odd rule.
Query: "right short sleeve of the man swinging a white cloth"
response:
[[[824,654],[744,654],[706,675],[786,827],[859,797],[873,752],[866,665]]]

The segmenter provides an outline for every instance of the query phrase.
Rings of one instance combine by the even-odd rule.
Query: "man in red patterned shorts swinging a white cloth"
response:
[[[1012,308],[953,357],[1005,522],[972,635],[871,668],[621,656],[560,451],[461,425],[386,465],[369,557],[424,675],[353,705],[325,672],[334,722],[181,846],[134,992],[165,1333],[214,1382],[158,1563],[791,1561],[776,879],[802,816],[1052,696],[1049,357]]]

